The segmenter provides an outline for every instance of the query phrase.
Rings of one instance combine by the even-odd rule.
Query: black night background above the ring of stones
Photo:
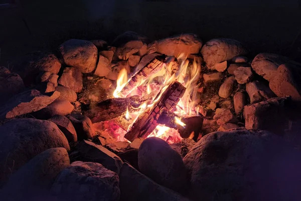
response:
[[[186,32],[203,41],[233,38],[245,43],[251,56],[272,52],[301,59],[297,0],[20,2],[22,9],[0,10],[0,64],[5,66],[30,51],[54,51],[70,38],[110,42],[128,30],[154,40]]]

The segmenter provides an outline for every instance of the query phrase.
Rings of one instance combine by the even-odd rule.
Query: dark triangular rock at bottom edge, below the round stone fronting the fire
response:
[[[122,165],[119,180],[120,201],[189,201],[188,198],[149,179],[127,163]]]

